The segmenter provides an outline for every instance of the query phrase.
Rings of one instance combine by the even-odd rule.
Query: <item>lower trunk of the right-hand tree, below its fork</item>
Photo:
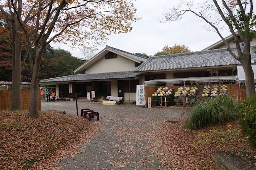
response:
[[[252,70],[251,54],[246,55],[246,57],[241,57],[241,64],[245,73],[246,97],[251,97],[255,93],[254,73]]]

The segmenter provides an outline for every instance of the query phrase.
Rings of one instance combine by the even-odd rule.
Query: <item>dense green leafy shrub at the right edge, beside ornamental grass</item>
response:
[[[242,131],[248,135],[251,143],[256,146],[256,94],[237,104],[237,113]]]

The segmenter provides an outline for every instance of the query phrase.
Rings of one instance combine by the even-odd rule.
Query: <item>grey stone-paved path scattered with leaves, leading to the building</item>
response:
[[[158,124],[180,117],[182,108],[135,108],[134,105],[102,105],[78,102],[78,109],[99,112],[99,131],[79,148],[73,158],[64,158],[60,169],[172,169],[161,153],[150,147]],[[41,110],[64,110],[76,115],[75,101],[44,102]],[[79,111],[80,115],[80,111]],[[154,147],[154,146],[153,146]]]

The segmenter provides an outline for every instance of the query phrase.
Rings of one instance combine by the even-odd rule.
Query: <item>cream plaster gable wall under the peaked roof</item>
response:
[[[107,72],[124,72],[133,71],[135,69],[135,61],[117,55],[117,58],[101,59],[93,63],[86,69],[87,74],[93,73],[107,73]]]

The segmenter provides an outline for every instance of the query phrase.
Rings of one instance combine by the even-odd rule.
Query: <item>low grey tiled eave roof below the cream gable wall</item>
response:
[[[40,82],[65,82],[65,81],[95,81],[95,80],[106,80],[106,79],[126,79],[136,78],[140,76],[140,73],[134,72],[109,72],[109,73],[96,73],[96,74],[73,74],[70,76],[48,78],[41,80]]]

